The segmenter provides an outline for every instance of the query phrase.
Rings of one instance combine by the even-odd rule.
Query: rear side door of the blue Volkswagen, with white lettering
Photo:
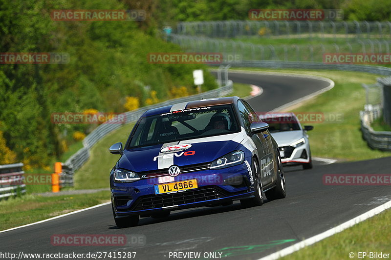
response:
[[[252,120],[254,122],[260,121],[259,116],[254,111],[254,109],[246,102],[243,101],[244,107],[249,111],[251,114]],[[271,140],[270,132],[269,130],[265,130],[259,134],[257,134],[258,138],[261,140],[263,145],[263,151],[264,156],[260,158],[260,168],[262,175],[266,178],[267,183],[272,183],[276,180],[275,173],[275,153],[273,151],[273,143]]]

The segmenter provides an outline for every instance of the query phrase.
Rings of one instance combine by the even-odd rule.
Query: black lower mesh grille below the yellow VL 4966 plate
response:
[[[132,210],[169,207],[192,202],[220,199],[224,197],[226,197],[226,195],[214,187],[203,187],[179,193],[143,196],[135,202],[135,206]]]

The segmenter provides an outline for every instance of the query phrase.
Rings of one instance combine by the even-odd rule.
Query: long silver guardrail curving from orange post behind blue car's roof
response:
[[[224,81],[226,85],[214,90],[210,90],[201,94],[196,94],[188,97],[178,98],[178,99],[172,99],[167,100],[161,103],[141,107],[139,109],[129,111],[126,113],[123,113],[124,118],[126,119],[124,123],[130,123],[132,121],[138,120],[139,117],[147,110],[162,107],[166,105],[173,105],[180,102],[188,102],[192,100],[201,100],[201,99],[208,99],[208,98],[216,98],[216,97],[223,97],[228,95],[232,92],[233,83],[231,80],[225,79]],[[110,123],[110,120],[108,122],[105,122],[95,128],[87,137],[83,140],[83,148],[81,148],[79,151],[77,151],[75,154],[73,154],[68,160],[65,161],[63,164],[71,171],[75,172],[78,170],[89,158],[89,149],[93,145],[95,145],[99,140],[101,140],[103,137],[105,137],[107,134],[112,132],[113,130],[119,128],[122,124],[118,123]]]

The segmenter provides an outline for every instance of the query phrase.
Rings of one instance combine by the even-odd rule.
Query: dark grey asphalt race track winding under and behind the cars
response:
[[[263,88],[261,96],[249,100],[257,111],[269,111],[328,85],[319,80],[275,75],[231,73],[230,79]],[[179,259],[170,258],[170,252],[201,252],[203,259],[205,252],[219,252],[226,259],[259,259],[391,200],[389,186],[329,186],[323,184],[323,175],[389,174],[390,168],[390,158],[317,163],[310,170],[285,167],[285,199],[266,201],[253,208],[242,208],[237,202],[224,207],[174,211],[162,220],[142,218],[137,227],[126,229],[115,226],[110,205],[101,206],[0,233],[0,252],[136,252],[134,259],[139,260]],[[50,238],[56,234],[140,234],[145,236],[146,244],[53,246]]]

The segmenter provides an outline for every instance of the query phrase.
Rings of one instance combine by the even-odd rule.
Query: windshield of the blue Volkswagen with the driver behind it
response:
[[[231,105],[190,108],[142,118],[128,148],[239,132]]]

